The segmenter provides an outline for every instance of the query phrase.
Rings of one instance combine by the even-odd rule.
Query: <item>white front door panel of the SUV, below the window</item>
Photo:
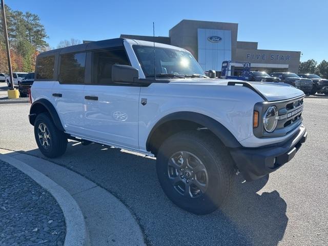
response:
[[[140,87],[86,85],[83,135],[114,145],[138,149]]]

